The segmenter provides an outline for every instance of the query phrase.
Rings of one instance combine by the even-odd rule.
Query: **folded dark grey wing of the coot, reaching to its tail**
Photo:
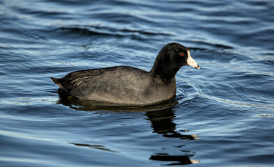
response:
[[[69,95],[86,100],[124,99],[144,91],[147,72],[135,67],[119,66],[71,72],[60,79],[51,78]]]

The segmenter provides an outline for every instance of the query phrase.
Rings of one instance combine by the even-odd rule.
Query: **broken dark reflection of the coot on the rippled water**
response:
[[[173,122],[175,116],[172,109],[173,106],[178,104],[176,101],[167,102],[165,104],[157,104],[153,106],[123,106],[120,104],[109,104],[105,102],[93,102],[86,100],[77,100],[73,97],[68,97],[61,91],[59,93],[58,104],[69,106],[71,109],[81,111],[116,111],[116,112],[146,112],[146,120],[151,122],[151,128],[153,133],[157,133],[166,138],[179,138],[183,140],[195,140],[198,139],[197,135],[186,135],[176,131],[176,124]],[[79,144],[74,145],[79,146]],[[82,146],[82,145],[81,145]],[[184,145],[174,146],[174,148],[181,149]],[[90,145],[89,145],[89,148]],[[94,147],[92,147],[94,148]],[[96,149],[102,149],[97,147]],[[183,154],[169,154],[166,152],[159,152],[151,154],[150,160],[155,161],[168,161],[171,165],[185,165],[185,164],[197,164],[199,160],[190,159],[195,155],[195,152],[186,150],[180,150]]]

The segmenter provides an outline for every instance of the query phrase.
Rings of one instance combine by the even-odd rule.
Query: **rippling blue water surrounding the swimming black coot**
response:
[[[169,42],[201,70],[176,100],[105,106],[48,77],[150,70]],[[274,1],[0,1],[0,166],[273,166]]]

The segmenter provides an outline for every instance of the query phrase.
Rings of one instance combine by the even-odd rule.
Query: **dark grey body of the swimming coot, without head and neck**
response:
[[[71,72],[52,81],[73,97],[115,104],[154,104],[176,94],[175,78],[165,84],[151,73],[129,66]]]

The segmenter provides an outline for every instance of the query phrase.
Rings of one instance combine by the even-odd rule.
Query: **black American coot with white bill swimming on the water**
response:
[[[70,72],[52,78],[67,95],[126,105],[146,105],[172,100],[176,95],[175,74],[183,65],[199,69],[187,47],[170,43],[163,47],[151,71],[116,66]]]

